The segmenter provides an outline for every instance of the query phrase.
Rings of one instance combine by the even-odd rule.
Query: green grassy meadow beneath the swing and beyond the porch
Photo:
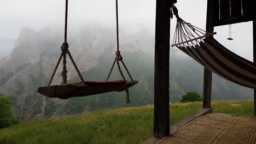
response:
[[[170,105],[171,125],[201,109],[201,102]],[[253,101],[213,101],[213,111],[253,115]],[[142,143],[153,136],[153,106],[89,112],[0,130],[0,143]]]

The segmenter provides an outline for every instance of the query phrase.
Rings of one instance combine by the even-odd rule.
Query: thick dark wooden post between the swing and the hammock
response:
[[[154,136],[170,135],[169,57],[170,57],[170,0],[156,0],[155,20],[155,83]]]

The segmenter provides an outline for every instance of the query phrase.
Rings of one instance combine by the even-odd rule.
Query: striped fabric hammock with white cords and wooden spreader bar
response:
[[[177,17],[172,46],[224,79],[256,88],[256,64],[226,49],[211,37],[213,34],[216,33],[205,32]]]

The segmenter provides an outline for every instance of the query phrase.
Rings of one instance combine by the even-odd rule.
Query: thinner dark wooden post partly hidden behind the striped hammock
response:
[[[207,1],[207,17],[206,17],[206,31],[213,33],[213,4],[214,0]],[[203,108],[211,108],[212,98],[212,72],[206,68],[203,69]]]

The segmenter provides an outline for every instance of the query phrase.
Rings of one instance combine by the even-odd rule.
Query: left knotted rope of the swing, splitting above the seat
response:
[[[71,62],[73,64],[75,70],[78,73],[78,76],[80,77],[80,80],[83,82],[84,87],[87,87],[86,82],[84,81],[83,76],[81,75],[81,73],[80,73],[80,71],[79,71],[79,69],[77,67],[77,64],[75,64],[74,59],[73,59],[73,57],[71,56],[71,53],[68,50],[68,43],[67,43],[67,17],[68,17],[68,0],[66,0],[64,43],[61,46],[61,51],[62,52],[61,52],[61,55],[60,55],[60,57],[59,57],[59,59],[57,61],[57,64],[56,64],[55,69],[53,71],[53,74],[51,75],[51,79],[49,81],[48,86],[50,86],[51,82],[53,81],[54,75],[55,75],[55,73],[57,71],[57,68],[59,67],[59,64],[60,64],[60,61],[61,61],[62,57],[63,57],[63,68],[62,68],[62,72],[61,72],[61,76],[62,76],[61,85],[66,85],[67,84],[67,72],[68,71],[67,71],[67,66],[66,66],[66,64],[67,64],[66,54],[68,54],[68,56],[71,59]]]

